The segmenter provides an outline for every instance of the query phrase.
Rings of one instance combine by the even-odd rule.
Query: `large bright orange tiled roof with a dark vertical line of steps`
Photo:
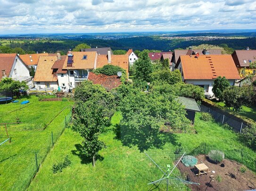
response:
[[[184,79],[240,79],[231,55],[180,56]]]

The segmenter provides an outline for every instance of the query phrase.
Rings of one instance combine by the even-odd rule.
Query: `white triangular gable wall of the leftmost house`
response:
[[[30,76],[29,69],[25,66],[25,64],[20,60],[18,56],[15,57],[14,63],[12,65],[12,69],[9,77],[16,78],[18,76]]]

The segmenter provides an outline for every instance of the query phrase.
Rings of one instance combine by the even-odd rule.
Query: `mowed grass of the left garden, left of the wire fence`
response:
[[[0,113],[5,114],[0,117],[0,122],[16,122],[16,112],[7,113],[27,106],[18,110],[22,124],[7,126],[11,143],[0,145],[0,190],[21,191],[27,188],[36,172],[35,153],[40,164],[52,146],[51,132],[56,141],[65,128],[65,116],[68,119],[71,115],[71,102],[41,102],[35,96],[28,100],[31,105],[21,105],[20,102],[0,105]],[[42,130],[43,124],[49,123],[64,107],[66,109]],[[5,139],[7,135],[1,125],[0,142]]]

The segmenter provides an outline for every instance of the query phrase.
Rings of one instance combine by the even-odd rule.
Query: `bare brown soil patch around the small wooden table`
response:
[[[178,164],[182,174],[186,174],[191,182],[200,183],[200,185],[189,184],[192,191],[246,191],[256,189],[256,174],[249,169],[245,173],[240,172],[241,164],[224,159],[221,164],[213,164],[206,159],[205,155],[196,157],[198,162],[202,161],[209,167],[208,175],[195,176],[194,168],[185,167],[182,163]],[[212,173],[212,171],[215,173]],[[215,179],[211,181],[210,176],[214,175]],[[216,176],[221,176],[222,181],[218,182]]]

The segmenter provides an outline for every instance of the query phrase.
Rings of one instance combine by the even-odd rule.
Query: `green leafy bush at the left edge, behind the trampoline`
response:
[[[28,85],[25,81],[17,81],[11,77],[3,77],[0,81],[0,91],[12,91],[17,97],[19,96],[19,91],[28,89]]]

